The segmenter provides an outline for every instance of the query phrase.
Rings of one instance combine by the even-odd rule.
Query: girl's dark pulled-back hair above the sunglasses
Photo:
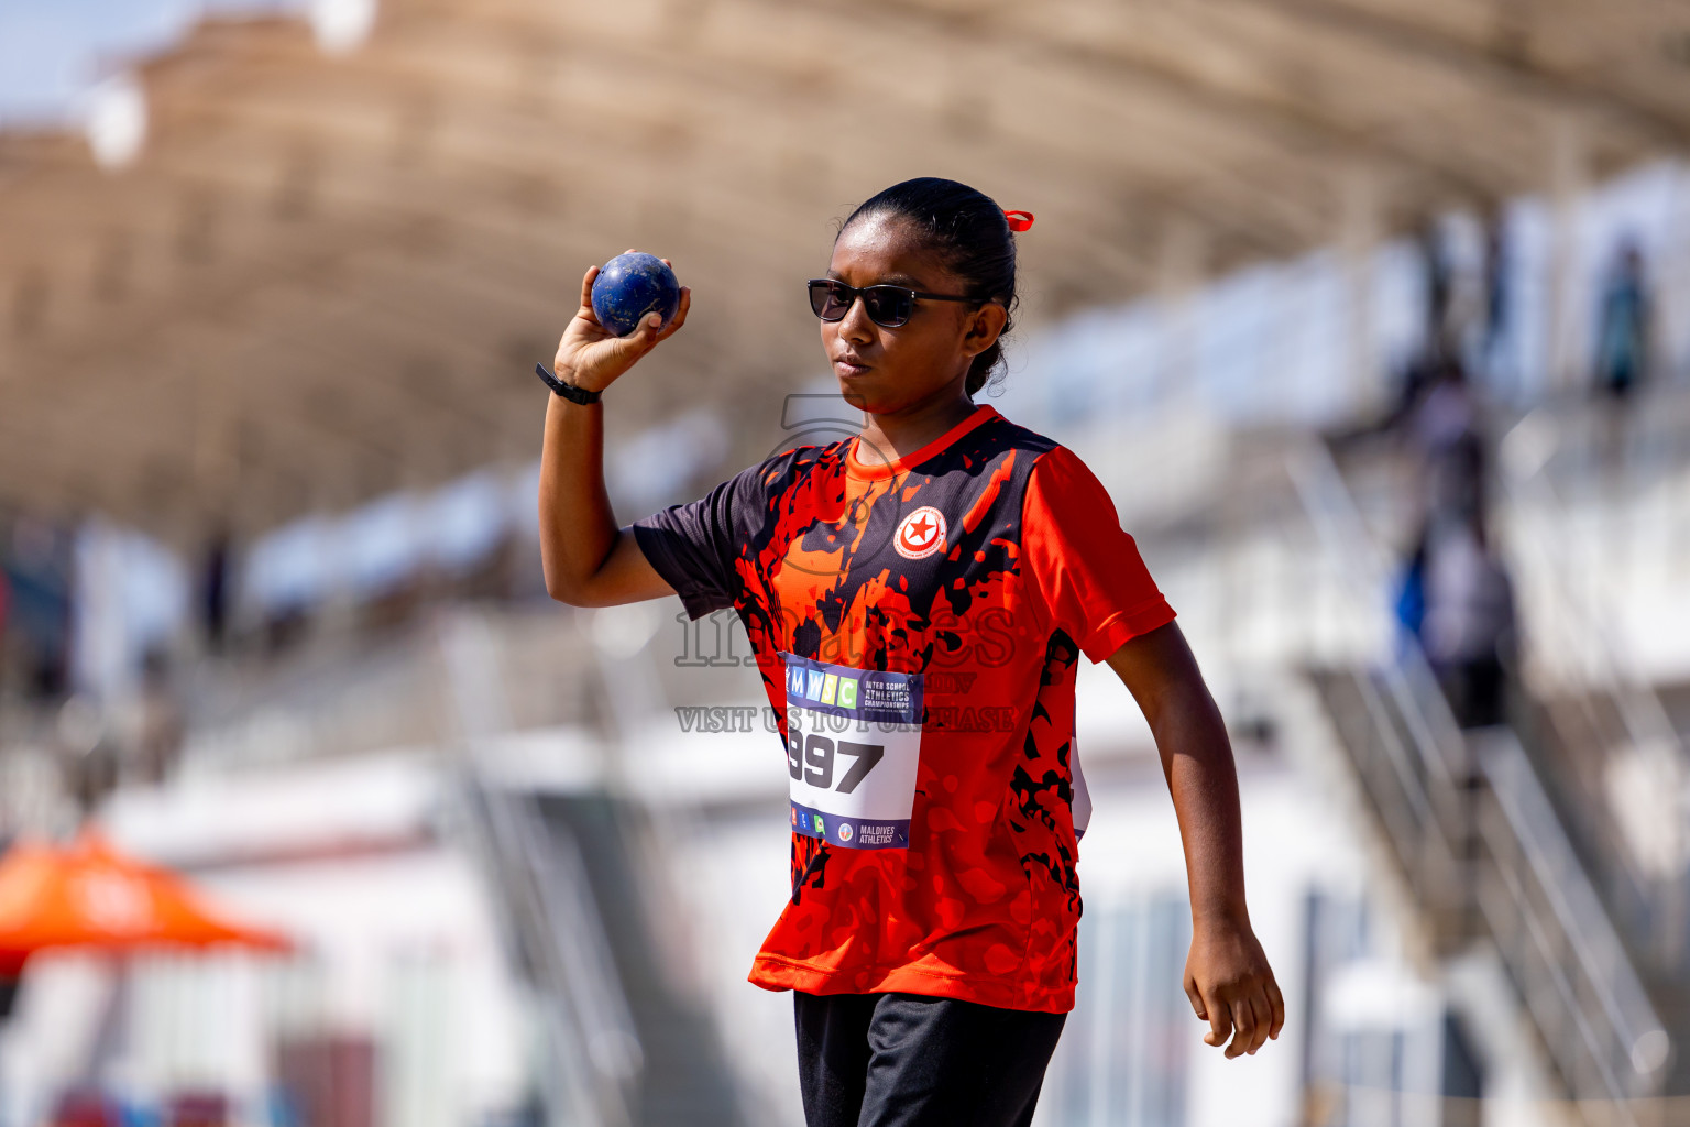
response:
[[[963,385],[970,395],[1004,363],[1004,336],[1014,328],[1016,296],[1016,238],[1004,218],[1004,210],[982,191],[938,176],[921,176],[892,184],[865,199],[845,223],[864,216],[887,216],[913,223],[943,255],[945,267],[962,279],[963,291],[980,304],[995,301],[1011,319],[992,346],[968,365]]]

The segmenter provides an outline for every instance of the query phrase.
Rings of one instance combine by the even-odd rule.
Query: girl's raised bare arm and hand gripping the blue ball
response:
[[[668,262],[668,259],[664,259]],[[553,370],[564,384],[603,390],[647,351],[686,323],[693,292],[681,287],[681,308],[668,328],[647,314],[627,336],[612,336],[593,314],[592,267],[581,279],[581,308],[558,343]],[[617,527],[605,492],[605,406],[553,395],[539,463],[539,553],[546,591],[561,603],[610,607],[673,595],[646,561],[634,534]]]

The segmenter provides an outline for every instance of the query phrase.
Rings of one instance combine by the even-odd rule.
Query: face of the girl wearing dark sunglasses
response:
[[[862,289],[902,286],[930,294],[962,294],[962,279],[909,223],[864,216],[840,231],[828,277]],[[897,328],[869,319],[859,299],[840,321],[821,321],[821,346],[833,363],[845,402],[870,414],[896,414],[948,397],[962,397],[968,363],[1004,331],[1007,311],[997,302],[916,301]]]

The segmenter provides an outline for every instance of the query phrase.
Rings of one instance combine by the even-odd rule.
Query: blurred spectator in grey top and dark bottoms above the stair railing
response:
[[[1425,549],[1421,640],[1455,721],[1504,721],[1514,664],[1514,585],[1486,536],[1480,512],[1436,524]]]

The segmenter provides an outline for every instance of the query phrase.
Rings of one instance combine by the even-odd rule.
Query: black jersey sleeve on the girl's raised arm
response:
[[[732,607],[740,595],[735,559],[745,529],[762,510],[762,466],[750,466],[703,497],[634,522],[651,566],[681,596],[691,618]]]

